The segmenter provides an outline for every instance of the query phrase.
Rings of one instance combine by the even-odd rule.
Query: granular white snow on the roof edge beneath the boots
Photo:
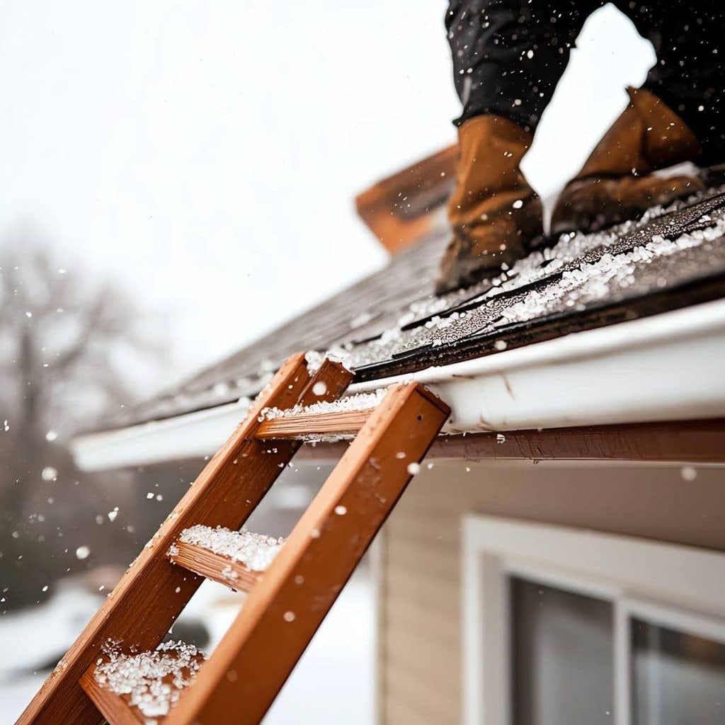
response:
[[[725,187],[718,189],[722,191]],[[667,257],[697,247],[709,253],[711,243],[725,235],[725,212],[721,209],[689,215],[697,222],[696,228],[682,231],[689,225],[681,222],[674,226],[676,235],[666,223],[658,223],[683,207],[684,202],[679,201],[666,208],[654,207],[642,219],[607,231],[564,234],[554,247],[532,252],[491,283],[479,283],[481,294],[468,299],[463,308],[446,308],[440,298],[414,302],[397,325],[377,339],[365,344],[347,343],[332,352],[346,367],[363,368],[425,345],[455,344],[473,334],[568,310],[584,312],[587,306],[616,299],[637,283],[638,268],[654,265],[653,269],[661,269]],[[643,233],[645,229],[652,233]],[[658,278],[658,286],[667,286],[666,271]],[[421,323],[410,326],[415,318]]]

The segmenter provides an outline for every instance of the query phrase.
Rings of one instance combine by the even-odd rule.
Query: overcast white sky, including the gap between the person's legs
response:
[[[440,0],[4,0],[0,239],[164,320],[170,378],[384,262],[352,199],[450,144]],[[611,7],[585,28],[526,170],[576,173],[653,62]],[[158,384],[159,381],[149,381]]]

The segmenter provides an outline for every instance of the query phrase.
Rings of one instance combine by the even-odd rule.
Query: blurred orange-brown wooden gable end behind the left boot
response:
[[[355,198],[357,214],[396,254],[431,231],[433,215],[455,184],[457,144],[378,181]]]

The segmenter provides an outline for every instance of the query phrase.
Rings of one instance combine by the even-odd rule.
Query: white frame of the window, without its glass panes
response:
[[[465,725],[510,725],[510,576],[612,602],[613,725],[630,725],[629,618],[725,642],[725,554],[482,515],[461,536]]]

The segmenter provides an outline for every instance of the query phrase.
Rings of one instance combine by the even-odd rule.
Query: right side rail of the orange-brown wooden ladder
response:
[[[389,390],[167,725],[260,722],[449,414],[420,385]]]

